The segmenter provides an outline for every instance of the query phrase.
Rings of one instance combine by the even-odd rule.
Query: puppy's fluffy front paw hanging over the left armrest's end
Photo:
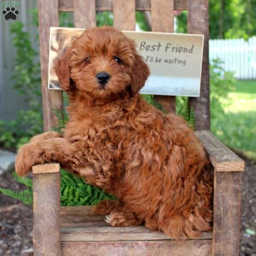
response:
[[[23,145],[19,150],[15,159],[15,172],[19,176],[26,175],[30,172],[33,165],[43,163],[40,157],[42,150],[37,148],[33,143]]]

